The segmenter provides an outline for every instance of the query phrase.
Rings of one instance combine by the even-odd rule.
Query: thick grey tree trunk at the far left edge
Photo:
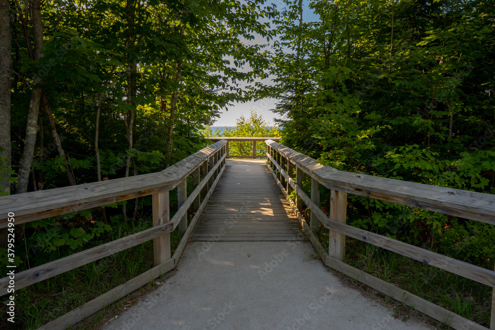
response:
[[[12,81],[10,21],[8,0],[0,0],[0,189],[10,194],[10,85]]]

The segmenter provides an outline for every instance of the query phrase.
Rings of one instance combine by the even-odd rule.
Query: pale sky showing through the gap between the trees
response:
[[[308,8],[308,3],[309,0],[303,0],[303,9],[302,9],[302,20],[304,22],[308,21],[315,21],[317,20],[316,15],[312,12],[311,9]],[[276,2],[279,10],[282,9],[282,5],[284,5],[284,2],[282,0],[278,0]],[[245,43],[250,43],[250,44],[265,44],[266,39],[260,37],[260,36],[255,36],[254,40],[251,41],[245,41]],[[231,61],[232,63],[232,61]],[[268,79],[265,80],[257,80],[258,82],[263,82],[267,85],[273,85],[274,83],[272,80],[275,78],[275,76],[271,76]],[[246,86],[246,85],[244,85]],[[240,103],[240,102],[233,102],[233,106],[228,106],[228,110],[221,109],[220,112],[220,118],[218,118],[213,126],[235,126],[236,125],[236,119],[239,118],[241,115],[244,117],[249,117],[249,114],[252,110],[255,110],[258,115],[263,116],[263,119],[268,122],[270,125],[275,125],[274,118],[282,119],[282,117],[274,113],[270,110],[275,109],[275,105],[277,103],[277,99],[275,98],[262,98],[257,101],[250,101],[250,102],[245,102],[245,103]]]

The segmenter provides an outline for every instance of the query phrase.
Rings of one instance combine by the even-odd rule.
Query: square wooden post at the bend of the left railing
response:
[[[170,221],[170,198],[168,191],[151,195],[153,227]],[[154,265],[158,266],[170,259],[170,233],[153,238]]]

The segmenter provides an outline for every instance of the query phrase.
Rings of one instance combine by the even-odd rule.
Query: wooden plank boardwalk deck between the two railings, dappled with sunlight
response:
[[[198,241],[302,240],[299,223],[265,160],[228,159],[201,214]]]

